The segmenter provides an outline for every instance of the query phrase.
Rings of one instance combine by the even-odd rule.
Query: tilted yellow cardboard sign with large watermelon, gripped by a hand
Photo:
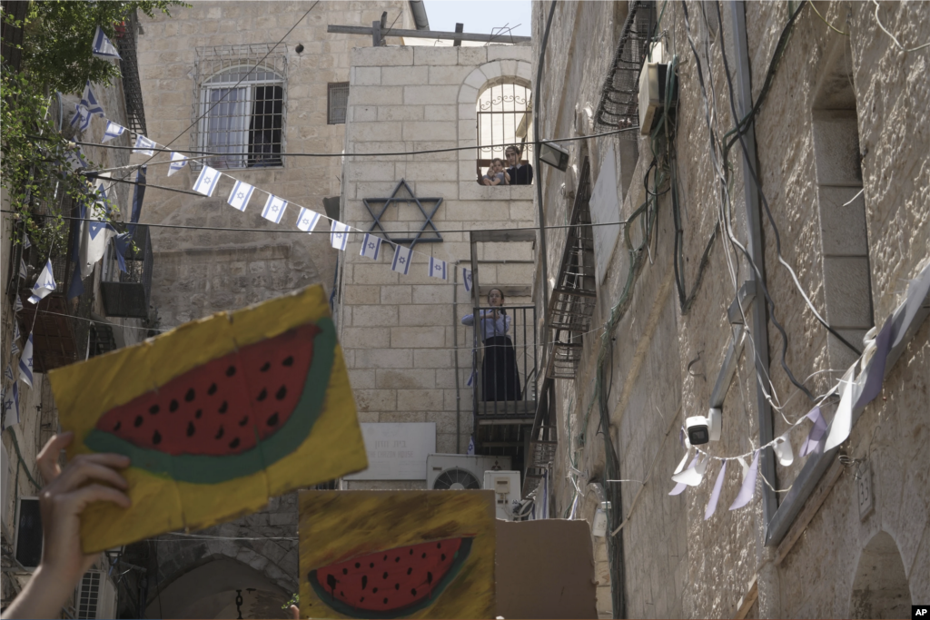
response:
[[[68,458],[128,455],[132,506],[82,516],[86,553],[263,508],[367,467],[322,286],[49,373]]]

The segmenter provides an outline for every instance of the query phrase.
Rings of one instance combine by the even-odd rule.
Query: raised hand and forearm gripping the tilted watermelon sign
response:
[[[33,578],[3,613],[4,618],[52,618],[99,554],[81,550],[81,513],[94,502],[129,507],[126,480],[117,469],[129,466],[123,455],[79,455],[64,468],[58,457],[73,433],[55,435],[36,459],[46,486],[39,494],[42,511],[42,561]]]

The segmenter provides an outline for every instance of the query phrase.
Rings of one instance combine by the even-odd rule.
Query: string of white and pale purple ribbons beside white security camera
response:
[[[828,453],[845,442],[852,432],[854,412],[864,409],[881,393],[888,355],[903,342],[918,311],[926,302],[928,294],[930,294],[930,265],[924,267],[917,278],[910,281],[904,303],[885,320],[881,331],[878,331],[877,327],[869,331],[864,339],[865,350],[859,359],[846,370],[844,376],[817,402],[813,409],[771,442],[743,455],[714,456],[697,446],[692,446],[682,429],[680,437],[685,452],[678,467],[671,475],[671,480],[676,484],[669,495],[680,495],[688,486],[697,486],[703,481],[711,460],[720,461],[720,472],[717,474],[717,480],[714,481],[711,498],[704,511],[704,520],[707,521],[717,509],[724,487],[726,466],[730,461],[736,461],[742,471],[739,492],[729,508],[736,510],[749,504],[755,495],[756,479],[759,474],[759,456],[764,449],[771,447],[778,464],[782,467],[788,467],[794,462],[789,436],[791,431],[799,428],[805,421],[811,422],[812,426],[798,451],[799,457]],[[840,402],[828,425],[820,410],[820,405],[834,394],[839,395]],[[695,449],[694,457],[691,456],[692,448]],[[750,457],[751,464],[747,464],[747,458]],[[764,478],[763,481],[771,486]]]

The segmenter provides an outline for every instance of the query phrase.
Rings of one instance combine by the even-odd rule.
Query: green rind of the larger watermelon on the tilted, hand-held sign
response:
[[[127,442],[100,429],[92,429],[84,440],[95,452],[126,455],[131,467],[144,469],[175,481],[215,484],[258,473],[297,450],[310,435],[323,412],[326,388],[336,359],[336,325],[320,319],[320,332],[313,336],[313,359],[300,400],[285,424],[254,448],[238,455],[168,455]],[[198,366],[199,367],[199,366]]]

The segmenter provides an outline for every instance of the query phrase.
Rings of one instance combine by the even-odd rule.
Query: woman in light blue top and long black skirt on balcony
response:
[[[480,333],[485,344],[483,401],[519,401],[521,397],[516,351],[511,336],[507,335],[511,330],[511,317],[502,308],[503,303],[503,292],[499,288],[492,288],[487,293],[487,305],[491,310],[481,310]],[[462,324],[474,325],[474,315],[463,316]]]

